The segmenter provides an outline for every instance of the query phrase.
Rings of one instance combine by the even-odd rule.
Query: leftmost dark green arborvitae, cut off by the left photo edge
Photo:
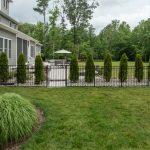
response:
[[[8,59],[6,53],[0,54],[0,82],[7,82],[9,76]]]

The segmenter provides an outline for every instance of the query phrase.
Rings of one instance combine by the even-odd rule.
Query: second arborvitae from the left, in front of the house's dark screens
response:
[[[25,56],[20,54],[17,60],[17,83],[26,82],[26,65],[25,65]]]

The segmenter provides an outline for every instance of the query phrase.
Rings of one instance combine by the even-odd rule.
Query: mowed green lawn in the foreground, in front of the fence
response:
[[[149,150],[150,87],[0,88],[43,109],[45,123],[21,150]]]

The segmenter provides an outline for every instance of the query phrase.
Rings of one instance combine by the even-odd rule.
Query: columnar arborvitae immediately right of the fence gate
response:
[[[77,82],[79,80],[79,66],[77,56],[74,54],[70,62],[70,81]]]

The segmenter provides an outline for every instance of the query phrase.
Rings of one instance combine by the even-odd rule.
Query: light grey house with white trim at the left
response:
[[[0,52],[7,53],[9,65],[17,65],[20,53],[24,53],[26,62],[33,64],[42,45],[18,30],[18,22],[9,15],[10,3],[12,0],[0,0]]]

